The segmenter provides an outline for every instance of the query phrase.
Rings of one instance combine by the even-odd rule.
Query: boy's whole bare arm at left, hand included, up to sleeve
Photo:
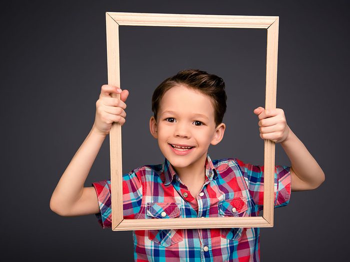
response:
[[[112,96],[113,93],[116,96]],[[99,212],[95,189],[84,188],[84,183],[112,124],[125,123],[124,102],[128,94],[126,89],[121,90],[117,86],[108,84],[101,86],[92,128],[52,193],[50,209],[53,212],[61,216],[80,216]]]

